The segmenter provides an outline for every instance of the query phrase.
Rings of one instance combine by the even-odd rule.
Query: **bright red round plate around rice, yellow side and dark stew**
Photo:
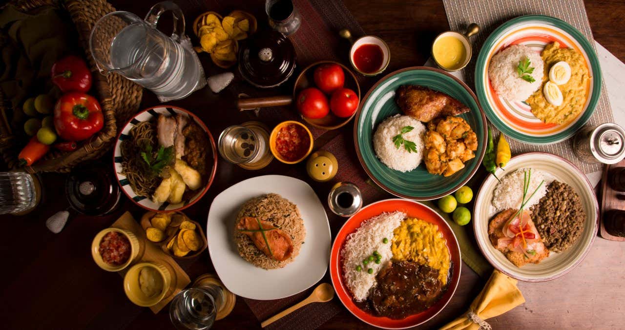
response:
[[[451,282],[449,282],[449,287],[447,287],[447,291],[442,298],[426,311],[408,316],[401,320],[389,319],[388,317],[376,317],[356,307],[356,304],[352,301],[351,294],[347,290],[347,286],[343,281],[343,271],[341,267],[342,257],[339,253],[347,236],[349,236],[352,232],[355,232],[356,229],[360,227],[362,221],[377,216],[382,212],[394,211],[405,212],[409,217],[417,217],[432,224],[437,224],[439,231],[442,232],[442,235],[447,240],[447,249],[449,249],[449,253],[451,254]],[[420,202],[409,201],[407,199],[386,199],[384,201],[374,202],[366,207],[363,207],[360,211],[354,214],[354,216],[347,219],[345,224],[343,224],[341,230],[336,235],[336,239],[334,239],[334,244],[332,244],[332,251],[330,254],[330,277],[332,278],[334,291],[336,291],[337,296],[341,299],[342,304],[348,311],[361,319],[363,322],[371,324],[372,326],[382,327],[384,329],[405,329],[407,327],[418,326],[419,324],[422,324],[423,322],[426,322],[436,316],[436,314],[442,311],[442,309],[447,305],[447,302],[451,300],[454,292],[456,292],[456,287],[458,286],[458,281],[460,280],[460,268],[460,247],[458,246],[454,232],[451,231],[451,227],[449,227],[445,219],[439,216],[436,211],[421,204]]]

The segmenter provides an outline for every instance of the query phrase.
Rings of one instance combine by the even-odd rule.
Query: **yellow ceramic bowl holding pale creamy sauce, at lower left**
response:
[[[139,272],[143,267],[150,267],[156,269],[157,274],[161,276],[163,279],[163,288],[161,292],[158,294],[154,294],[154,296],[148,297],[146,294],[141,291],[141,287],[139,287]],[[126,272],[126,276],[124,276],[124,292],[126,292],[126,296],[128,299],[132,301],[134,304],[143,307],[154,306],[158,304],[159,301],[163,300],[167,291],[169,291],[169,286],[171,285],[171,274],[167,267],[163,266],[159,262],[141,262],[139,264],[134,265],[128,269]]]

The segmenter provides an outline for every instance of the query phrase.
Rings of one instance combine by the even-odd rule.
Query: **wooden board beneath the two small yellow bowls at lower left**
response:
[[[138,264],[139,262],[158,261],[169,269],[169,273],[171,274],[171,286],[169,286],[169,291],[163,300],[159,301],[158,304],[150,306],[150,309],[154,312],[154,314],[158,313],[161,309],[163,309],[163,307],[167,306],[167,304],[174,298],[174,296],[176,296],[178,292],[189,285],[191,279],[189,279],[187,273],[184,272],[176,261],[174,261],[172,257],[168,256],[161,249],[161,247],[148,241],[146,232],[143,230],[139,222],[134,220],[130,212],[127,211],[122,214],[117,221],[113,222],[111,227],[132,231],[139,239],[139,245],[141,246],[136,260],[123,271],[118,271],[118,274],[122,278],[126,276],[126,271],[128,271],[131,266]]]

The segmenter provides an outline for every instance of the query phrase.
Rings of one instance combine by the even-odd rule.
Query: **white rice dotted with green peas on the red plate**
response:
[[[362,222],[355,232],[347,236],[345,246],[341,250],[343,259],[343,274],[347,288],[356,301],[363,301],[369,296],[369,291],[376,284],[376,275],[382,265],[391,260],[391,242],[393,230],[406,218],[404,212],[382,213]],[[388,242],[384,244],[382,240],[386,237]],[[382,257],[380,263],[369,262],[366,266],[362,261],[377,251]],[[361,266],[362,270],[357,271],[356,267]],[[367,269],[373,269],[369,274]]]

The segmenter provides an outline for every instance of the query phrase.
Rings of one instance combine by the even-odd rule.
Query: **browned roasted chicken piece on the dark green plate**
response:
[[[439,116],[457,116],[469,112],[469,108],[457,99],[416,85],[400,86],[395,101],[404,114],[424,123]]]

